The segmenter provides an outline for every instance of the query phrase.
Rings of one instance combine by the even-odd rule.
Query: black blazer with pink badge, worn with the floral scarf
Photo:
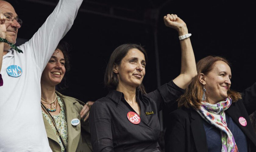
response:
[[[256,135],[249,119],[256,110],[256,83],[247,88],[242,99],[232,103],[225,112],[236,123],[247,137],[248,151],[256,151]],[[247,113],[248,112],[248,113]],[[244,117],[247,126],[242,126],[238,119]],[[207,152],[207,140],[203,118],[194,110],[182,107],[170,113],[170,124],[165,133],[165,151]]]

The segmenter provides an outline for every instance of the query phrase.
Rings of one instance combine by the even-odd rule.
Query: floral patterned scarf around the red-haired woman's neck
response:
[[[221,131],[222,152],[238,152],[233,134],[227,127],[225,110],[232,103],[231,98],[226,98],[224,101],[217,104],[201,102],[200,108],[197,110],[199,115],[208,123],[215,126]]]

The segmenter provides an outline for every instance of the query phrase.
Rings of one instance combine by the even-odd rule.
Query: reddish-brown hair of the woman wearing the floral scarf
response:
[[[187,108],[198,109],[202,102],[203,96],[203,85],[199,81],[200,74],[208,74],[214,67],[216,61],[223,61],[229,65],[230,63],[223,57],[208,56],[197,62],[197,77],[193,79],[191,84],[187,87],[186,92],[180,97],[178,106],[185,106]],[[206,92],[205,92],[206,93]],[[241,94],[239,92],[228,90],[228,97],[232,99],[232,102],[236,102],[241,99]],[[207,97],[207,94],[205,94]],[[207,101],[207,98],[206,98]]]

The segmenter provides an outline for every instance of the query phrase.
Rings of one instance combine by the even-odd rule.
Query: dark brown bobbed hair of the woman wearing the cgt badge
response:
[[[105,84],[106,88],[116,89],[116,87],[118,85],[118,79],[117,79],[116,73],[113,72],[113,66],[114,66],[114,64],[120,65],[122,59],[126,56],[128,51],[131,49],[140,50],[144,54],[145,60],[147,62],[148,56],[147,56],[145,49],[142,46],[137,45],[137,44],[122,44],[122,45],[120,45],[112,52],[112,54],[108,60],[108,65],[106,67],[106,72],[105,72],[105,76],[104,76],[104,84]],[[146,94],[144,85],[142,83],[138,86],[138,89],[140,89],[142,94]]]

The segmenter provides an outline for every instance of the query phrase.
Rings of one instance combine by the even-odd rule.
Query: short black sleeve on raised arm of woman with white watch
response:
[[[165,105],[171,107],[184,92],[184,89],[170,81],[160,86],[157,90],[148,93],[147,96],[156,102],[157,109],[160,111]]]

